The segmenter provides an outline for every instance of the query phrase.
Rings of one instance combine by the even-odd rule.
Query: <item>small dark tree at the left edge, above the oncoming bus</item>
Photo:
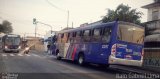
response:
[[[12,33],[13,32],[12,23],[10,23],[7,20],[4,20],[2,22],[2,24],[0,24],[0,32],[2,32],[2,33]]]

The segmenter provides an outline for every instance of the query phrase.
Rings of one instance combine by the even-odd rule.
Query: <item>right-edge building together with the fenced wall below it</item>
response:
[[[145,49],[143,67],[160,72],[160,0],[143,6],[148,9],[148,22],[145,24]]]

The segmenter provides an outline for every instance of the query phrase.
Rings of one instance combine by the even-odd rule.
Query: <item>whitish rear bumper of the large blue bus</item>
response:
[[[121,58],[115,58],[113,56],[110,56],[109,57],[109,64],[142,66],[142,60],[128,60],[128,59],[121,59]]]

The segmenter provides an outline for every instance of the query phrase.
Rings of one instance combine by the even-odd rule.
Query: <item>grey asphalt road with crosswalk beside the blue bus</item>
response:
[[[0,53],[0,73],[4,79],[7,73],[16,75],[16,79],[117,79],[117,74],[130,72],[97,65],[82,67],[75,62],[56,60],[52,55],[30,52]]]

